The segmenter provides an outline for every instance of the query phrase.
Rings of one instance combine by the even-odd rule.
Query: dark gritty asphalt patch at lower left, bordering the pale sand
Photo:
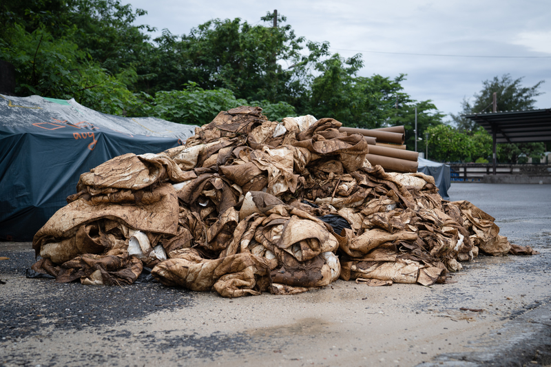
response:
[[[0,262],[0,279],[6,282],[1,285],[0,343],[44,330],[51,335],[54,328],[99,330],[106,324],[138,319],[160,309],[185,308],[193,302],[189,291],[160,284],[94,287],[26,279],[33,251],[11,251],[7,257],[10,259]]]

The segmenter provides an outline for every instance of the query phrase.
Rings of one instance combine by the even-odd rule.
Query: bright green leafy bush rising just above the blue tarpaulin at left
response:
[[[45,28],[29,33],[15,24],[12,37],[18,40],[15,45],[0,41],[0,59],[16,68],[16,94],[76,98],[108,114],[121,114],[134,103],[135,96],[126,86],[136,78],[133,69],[112,75],[87,58],[76,43],[55,38]]]

